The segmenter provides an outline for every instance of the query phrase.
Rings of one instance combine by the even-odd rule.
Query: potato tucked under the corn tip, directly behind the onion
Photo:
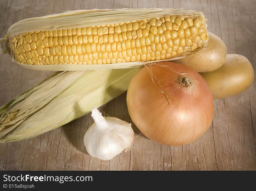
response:
[[[227,55],[227,48],[224,42],[216,35],[208,32],[209,41],[205,49],[188,56],[174,60],[182,63],[197,72],[211,72],[221,67]]]

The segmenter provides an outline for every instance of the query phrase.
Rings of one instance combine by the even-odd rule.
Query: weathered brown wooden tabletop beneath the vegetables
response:
[[[227,53],[246,56],[256,66],[256,3],[251,0],[2,0],[3,38],[15,22],[78,9],[186,8],[202,10],[208,30],[225,42]],[[0,105],[33,87],[52,72],[19,67],[9,55],[0,55]],[[102,106],[107,116],[130,121],[126,93]],[[214,101],[214,119],[197,141],[180,147],[157,144],[134,125],[133,149],[112,160],[92,158],[83,135],[93,123],[85,115],[35,138],[0,144],[0,170],[256,170],[256,86],[237,96]]]

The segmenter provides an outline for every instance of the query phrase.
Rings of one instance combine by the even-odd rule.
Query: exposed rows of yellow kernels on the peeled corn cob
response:
[[[142,10],[132,11],[138,14]],[[26,65],[101,65],[171,60],[198,51],[206,44],[205,17],[201,12],[189,13],[157,9],[152,16],[161,17],[145,14],[140,20],[27,31],[9,37],[6,49],[17,63]]]

